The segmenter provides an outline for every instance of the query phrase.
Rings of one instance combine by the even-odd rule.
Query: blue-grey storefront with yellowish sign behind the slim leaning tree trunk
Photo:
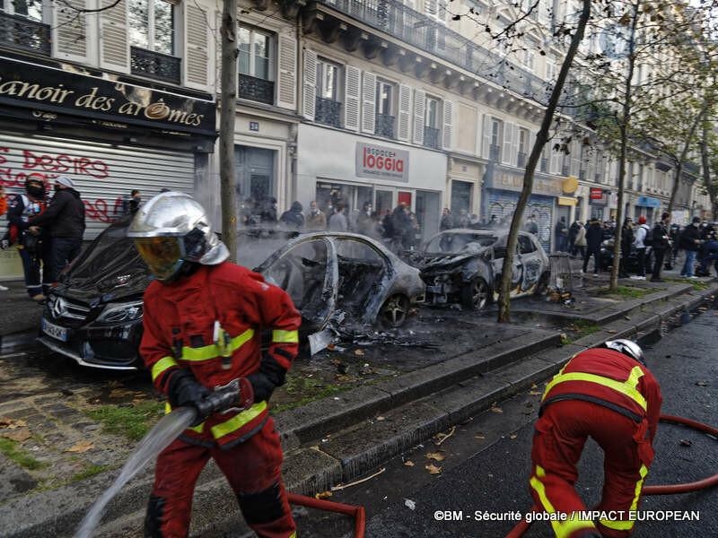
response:
[[[523,172],[489,164],[484,176],[484,187],[486,188],[484,213],[489,216],[489,220],[495,217],[499,227],[509,226],[523,187]],[[535,216],[538,224],[538,240],[547,251],[552,246],[557,198],[563,192],[562,178],[536,174],[529,203],[523,212],[523,221],[528,220],[532,215]]]

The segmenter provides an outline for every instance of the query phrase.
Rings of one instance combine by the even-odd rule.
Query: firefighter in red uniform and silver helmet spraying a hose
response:
[[[301,317],[292,299],[258,273],[226,262],[229,252],[190,196],[165,192],[142,206],[127,236],[155,280],[144,292],[140,352],[168,406],[193,405],[197,421],[157,458],[144,536],[188,535],[197,477],[212,457],[259,536],[292,538],[282,483],[282,449],[267,399],[285,381]],[[273,329],[262,357],[261,327]],[[211,413],[211,391],[235,379],[251,385],[247,409]],[[249,384],[247,383],[249,381]],[[248,391],[250,393],[251,391]]]

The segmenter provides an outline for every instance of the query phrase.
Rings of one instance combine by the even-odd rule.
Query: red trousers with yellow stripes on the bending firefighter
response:
[[[628,521],[628,512],[639,508],[652,460],[645,428],[645,422],[638,424],[591,402],[566,400],[546,406],[534,432],[530,491],[538,507],[569,516],[567,521],[551,522],[558,538],[576,538],[596,528],[604,536],[631,534],[634,522]],[[592,509],[613,512],[607,518],[600,517],[596,524],[578,515],[571,520],[572,512],[586,510],[574,483],[578,478],[576,464],[589,436],[605,453],[603,495]]]

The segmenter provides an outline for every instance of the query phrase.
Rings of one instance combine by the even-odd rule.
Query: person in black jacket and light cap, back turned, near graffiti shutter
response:
[[[74,182],[66,176],[55,178],[55,196],[43,213],[30,221],[31,233],[39,233],[39,226],[49,229],[49,282],[80,254],[84,235],[84,204]]]

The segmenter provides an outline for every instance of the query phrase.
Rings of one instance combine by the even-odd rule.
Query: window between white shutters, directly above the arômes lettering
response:
[[[163,0],[129,0],[130,45],[174,55],[174,5]]]

